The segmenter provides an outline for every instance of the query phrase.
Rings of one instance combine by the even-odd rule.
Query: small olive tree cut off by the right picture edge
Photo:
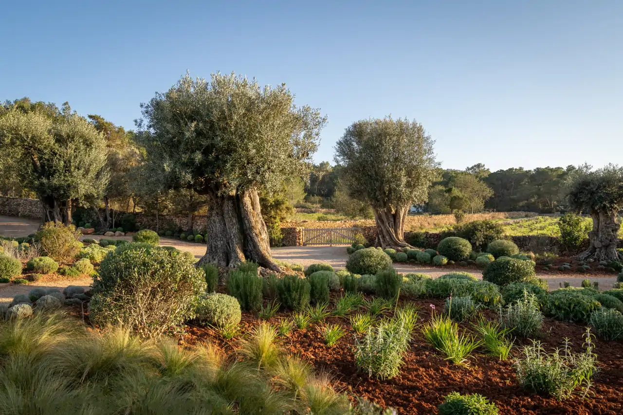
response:
[[[590,245],[579,259],[617,260],[617,212],[623,207],[623,167],[604,168],[578,174],[569,189],[569,204],[579,211],[588,211],[592,231]]]

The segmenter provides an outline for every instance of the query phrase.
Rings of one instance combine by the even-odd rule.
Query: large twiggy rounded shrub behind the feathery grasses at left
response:
[[[93,278],[90,318],[98,325],[121,323],[141,336],[160,336],[192,316],[205,289],[204,272],[184,255],[156,247],[116,250]]]

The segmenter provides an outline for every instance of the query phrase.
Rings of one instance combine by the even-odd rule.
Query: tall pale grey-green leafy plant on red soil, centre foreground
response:
[[[354,336],[353,351],[357,368],[376,379],[393,378],[400,371],[409,340],[411,333],[400,318],[386,319],[376,327],[369,327],[362,338]]]

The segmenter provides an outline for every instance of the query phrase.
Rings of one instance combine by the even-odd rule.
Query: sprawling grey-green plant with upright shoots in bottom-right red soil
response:
[[[516,361],[517,380],[523,388],[556,399],[570,398],[581,388],[584,396],[591,387],[591,378],[596,373],[597,355],[593,352],[591,331],[584,335],[584,351],[574,353],[569,339],[563,348],[547,353],[540,341],[523,348],[523,356]]]

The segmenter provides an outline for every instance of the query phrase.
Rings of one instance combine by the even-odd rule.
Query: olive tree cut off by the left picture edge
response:
[[[0,146],[12,171],[36,193],[44,222],[72,222],[72,200],[102,198],[108,183],[103,135],[85,118],[62,110],[14,106],[0,116]],[[55,107],[54,107],[55,108]]]

